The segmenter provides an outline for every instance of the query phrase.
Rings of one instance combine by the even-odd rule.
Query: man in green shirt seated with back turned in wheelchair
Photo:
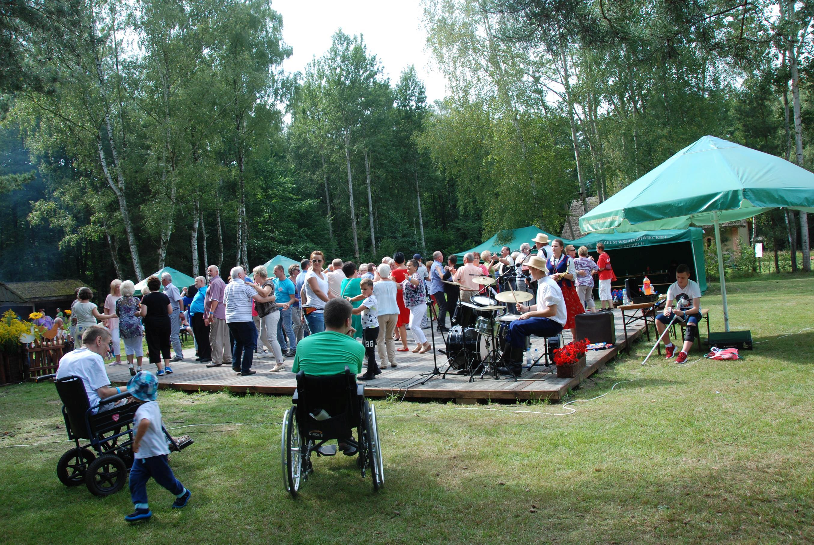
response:
[[[339,375],[345,366],[357,375],[365,361],[365,347],[353,338],[351,327],[353,307],[345,299],[336,297],[328,301],[323,311],[325,331],[313,333],[297,343],[297,353],[291,371],[306,375]],[[345,455],[355,455],[353,446],[340,442]]]

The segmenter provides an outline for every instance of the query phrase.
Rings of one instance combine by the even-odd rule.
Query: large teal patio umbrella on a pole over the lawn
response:
[[[729,331],[720,222],[775,208],[814,212],[814,174],[781,157],[705,136],[580,218],[584,232],[714,225]]]

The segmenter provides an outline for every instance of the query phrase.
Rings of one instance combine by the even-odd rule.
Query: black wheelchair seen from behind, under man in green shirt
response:
[[[365,385],[357,385],[348,367],[339,375],[314,376],[297,373],[297,389],[291,409],[282,417],[282,480],[292,498],[313,472],[311,455],[336,455],[337,440],[357,449],[361,476],[370,472],[373,490],[384,486],[382,450],[376,409],[365,399]],[[317,419],[316,417],[319,417]],[[352,429],[357,429],[357,440]]]

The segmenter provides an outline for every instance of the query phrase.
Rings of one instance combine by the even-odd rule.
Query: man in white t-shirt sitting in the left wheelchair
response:
[[[104,370],[103,356],[107,354],[110,332],[102,326],[91,326],[82,332],[82,347],[71,350],[59,360],[56,378],[78,376],[85,385],[90,407],[106,398],[121,393],[120,388],[110,385]],[[94,413],[98,409],[94,409]]]

